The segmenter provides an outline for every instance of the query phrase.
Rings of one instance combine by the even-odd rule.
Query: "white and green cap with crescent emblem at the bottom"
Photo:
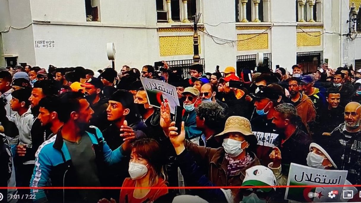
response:
[[[276,177],[274,176],[271,169],[257,165],[246,170],[246,175],[243,179],[242,186],[274,186],[277,185]],[[260,188],[265,192],[272,190],[272,187]]]

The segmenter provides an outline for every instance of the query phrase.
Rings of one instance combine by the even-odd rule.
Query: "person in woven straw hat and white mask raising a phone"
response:
[[[180,136],[177,133],[175,122],[170,124],[169,136],[176,153],[181,154],[186,148],[191,151],[201,166],[201,171],[208,174],[209,181],[216,186],[241,186],[245,170],[255,165],[260,165],[253,151],[257,145],[257,139],[252,133],[251,124],[247,118],[231,116],[227,119],[225,129],[215,137],[223,138],[223,148],[206,148],[185,141],[184,127]],[[184,124],[183,124],[184,126]],[[235,202],[240,202],[242,196],[239,189],[232,189]]]

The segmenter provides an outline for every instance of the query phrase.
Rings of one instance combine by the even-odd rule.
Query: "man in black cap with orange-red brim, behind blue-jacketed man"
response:
[[[85,98],[90,103],[94,111],[90,125],[97,126],[100,130],[104,130],[109,126],[106,120],[106,108],[108,108],[108,99],[106,99],[101,91],[103,90],[103,82],[98,78],[90,78],[85,84],[81,85],[85,88]]]

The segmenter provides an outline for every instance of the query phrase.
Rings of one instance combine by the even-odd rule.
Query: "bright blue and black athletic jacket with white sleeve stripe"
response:
[[[95,160],[99,171],[99,180],[104,180],[105,164],[118,163],[125,157],[122,147],[112,151],[106,144],[100,130],[90,126],[84,133],[88,134],[95,152]],[[35,168],[32,174],[30,187],[45,187],[48,182],[53,187],[79,187],[77,177],[71,163],[70,154],[62,136],[61,129],[57,135],[45,141],[35,154]],[[45,194],[43,189],[32,189],[35,195],[34,202],[81,202],[77,190],[49,190]]]

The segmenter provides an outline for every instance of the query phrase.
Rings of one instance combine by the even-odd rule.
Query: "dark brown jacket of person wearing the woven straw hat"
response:
[[[225,150],[223,147],[218,149],[198,146],[195,143],[186,141],[186,148],[191,151],[197,164],[204,170],[210,182],[216,186],[241,186],[245,177],[245,170],[255,165],[261,165],[256,155],[248,151],[253,158],[252,162],[245,166],[236,176],[227,177],[228,161],[225,159]],[[239,189],[232,189],[232,193],[236,196]]]

